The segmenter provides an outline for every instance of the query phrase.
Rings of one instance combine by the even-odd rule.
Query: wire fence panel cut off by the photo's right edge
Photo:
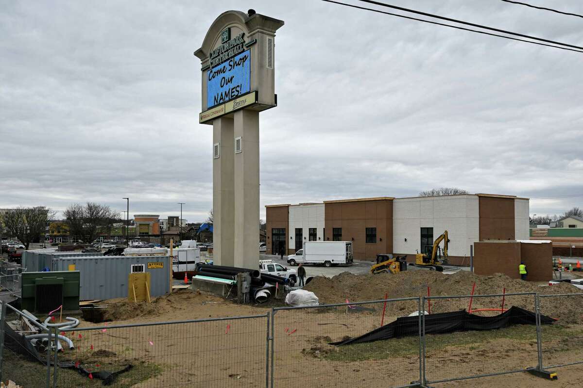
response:
[[[541,326],[543,368],[583,363],[583,293],[539,295],[540,314],[556,318]]]

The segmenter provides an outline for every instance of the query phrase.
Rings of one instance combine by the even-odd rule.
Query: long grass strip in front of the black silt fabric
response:
[[[570,330],[564,326],[542,326],[542,339],[573,337],[583,330]],[[531,343],[536,346],[536,326],[517,325],[509,328],[484,331],[456,332],[448,334],[428,334],[426,351],[433,353],[447,347],[469,346],[469,350],[479,350],[481,345],[498,340],[510,343]],[[575,344],[573,348],[575,348]],[[571,349],[564,349],[568,351]],[[361,344],[333,347],[331,351],[322,352],[321,358],[329,361],[366,361],[368,359],[386,359],[392,357],[410,357],[419,354],[418,337],[403,337]]]

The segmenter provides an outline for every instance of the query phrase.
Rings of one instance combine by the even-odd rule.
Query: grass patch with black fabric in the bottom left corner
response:
[[[29,361],[19,354],[5,349],[2,364],[2,378],[12,380],[23,387],[44,387],[47,379],[47,367],[38,362]],[[160,365],[151,362],[134,362],[134,368],[129,372],[122,373],[115,379],[115,387],[130,388],[138,383],[153,378],[163,371]],[[125,368],[127,365],[104,364],[94,371],[115,372]],[[86,367],[89,370],[89,368]],[[52,366],[51,366],[51,386],[52,386]],[[58,369],[57,386],[62,388],[69,387],[101,387],[101,380],[90,380],[80,375],[72,369]]]

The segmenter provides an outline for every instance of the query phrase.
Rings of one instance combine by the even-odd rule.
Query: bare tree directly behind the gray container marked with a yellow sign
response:
[[[64,214],[71,234],[82,237],[87,242],[96,239],[99,233],[111,232],[113,224],[120,218],[120,213],[107,205],[94,202],[87,202],[85,206],[69,205]]]

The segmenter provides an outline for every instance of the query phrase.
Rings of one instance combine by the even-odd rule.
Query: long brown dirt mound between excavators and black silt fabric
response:
[[[385,293],[388,298],[406,298],[427,296],[427,287],[431,296],[469,295],[476,283],[475,295],[501,294],[505,289],[511,293],[539,294],[574,294],[577,288],[567,283],[541,287],[538,284],[523,282],[497,273],[492,276],[478,276],[468,271],[459,271],[453,275],[429,270],[411,270],[396,275],[354,275],[343,272],[332,278],[317,276],[304,289],[312,291],[319,298],[320,304],[380,300]],[[543,314],[560,318],[568,323],[583,322],[581,312],[576,308],[583,297],[542,298]],[[473,298],[472,309],[500,308],[501,297]],[[404,305],[411,309],[412,302],[395,303],[392,309],[403,310]],[[535,311],[533,296],[507,296],[504,307],[512,305]],[[389,308],[389,307],[388,307]],[[428,306],[426,306],[426,309]],[[469,308],[469,298],[451,298],[431,301],[431,312],[447,312]]]

